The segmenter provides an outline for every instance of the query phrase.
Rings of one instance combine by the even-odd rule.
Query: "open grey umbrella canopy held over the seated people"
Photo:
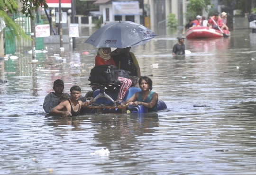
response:
[[[85,43],[101,47],[126,48],[144,45],[157,36],[145,26],[131,21],[111,22],[92,34]]]

